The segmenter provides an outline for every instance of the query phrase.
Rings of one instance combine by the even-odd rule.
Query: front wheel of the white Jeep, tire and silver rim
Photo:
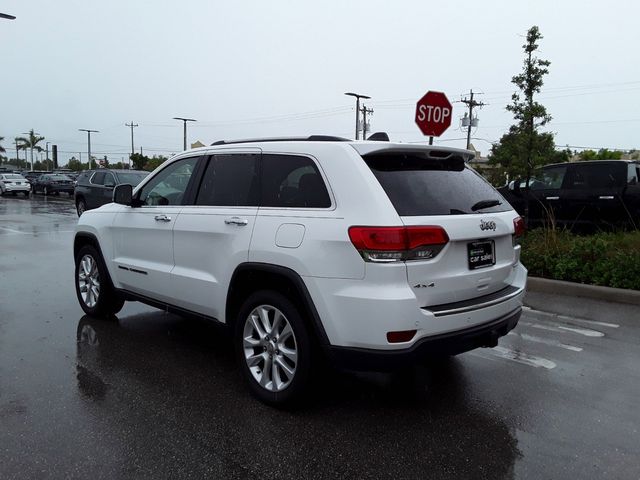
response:
[[[81,269],[86,280],[81,280]],[[82,281],[86,283],[81,285]],[[104,317],[122,310],[124,298],[113,288],[102,255],[94,246],[85,245],[78,251],[74,283],[80,307],[87,315]],[[84,296],[89,290],[91,293]]]

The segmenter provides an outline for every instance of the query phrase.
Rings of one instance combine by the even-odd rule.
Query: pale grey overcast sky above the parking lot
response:
[[[333,134],[353,138],[354,102],[370,95],[373,131],[422,141],[415,102],[473,89],[473,143],[486,154],[512,123],[505,105],[529,27],[551,61],[539,100],[556,144],[640,148],[637,0],[0,0],[0,136],[11,153],[33,128],[61,163],[83,152],[127,158],[188,141]],[[464,147],[452,126],[435,143]]]

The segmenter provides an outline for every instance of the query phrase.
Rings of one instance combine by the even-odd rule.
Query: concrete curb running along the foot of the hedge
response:
[[[625,288],[600,287],[583,283],[549,280],[548,278],[529,277],[527,290],[538,293],[553,293],[572,297],[593,298],[606,302],[640,305],[640,291]]]

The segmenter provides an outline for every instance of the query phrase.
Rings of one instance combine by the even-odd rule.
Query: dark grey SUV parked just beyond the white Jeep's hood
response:
[[[76,180],[74,191],[78,216],[85,210],[111,202],[113,188],[121,183],[138,185],[149,172],[143,170],[87,170]]]

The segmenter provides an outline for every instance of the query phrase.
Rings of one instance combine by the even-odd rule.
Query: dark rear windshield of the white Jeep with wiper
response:
[[[365,155],[401,216],[506,212],[507,201],[462,157],[430,158],[426,152]]]

